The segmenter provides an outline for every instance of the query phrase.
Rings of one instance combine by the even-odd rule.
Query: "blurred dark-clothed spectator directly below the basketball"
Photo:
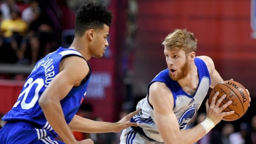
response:
[[[225,123],[222,128],[222,144],[232,144],[229,140],[230,134],[234,133],[234,125],[232,123]]]

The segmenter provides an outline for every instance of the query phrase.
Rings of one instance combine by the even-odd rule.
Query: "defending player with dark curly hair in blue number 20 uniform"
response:
[[[28,76],[17,102],[2,118],[0,144],[91,144],[76,141],[71,130],[86,133],[119,132],[138,123],[129,121],[138,111],[117,123],[97,122],[75,113],[86,95],[91,69],[87,60],[101,58],[108,46],[111,12],[95,3],[82,4],[76,13],[75,38],[66,49],[39,60]]]

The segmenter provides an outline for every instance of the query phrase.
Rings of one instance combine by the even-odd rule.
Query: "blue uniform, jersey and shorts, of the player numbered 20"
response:
[[[2,118],[7,123],[0,130],[1,144],[62,143],[54,139],[57,133],[47,122],[38,100],[52,79],[59,73],[61,60],[70,56],[83,58],[77,50],[60,47],[36,63],[17,102]],[[90,75],[91,69],[86,78],[81,81],[81,85],[73,87],[60,101],[67,124],[70,123],[85,97]]]

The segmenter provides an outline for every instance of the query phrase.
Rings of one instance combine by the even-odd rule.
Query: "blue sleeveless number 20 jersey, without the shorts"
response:
[[[36,128],[45,129],[56,137],[57,134],[47,122],[38,100],[52,79],[59,73],[60,61],[69,56],[82,57],[77,50],[60,47],[39,60],[23,85],[17,102],[2,120],[31,123]],[[89,74],[81,82],[81,85],[73,87],[68,95],[60,101],[67,124],[74,117],[85,97],[91,74],[90,66],[89,69]]]

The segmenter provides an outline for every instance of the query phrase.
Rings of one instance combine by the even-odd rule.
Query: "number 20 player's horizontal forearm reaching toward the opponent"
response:
[[[71,130],[84,133],[107,133],[117,132],[116,125],[109,122],[92,121],[91,119],[83,118],[75,115],[69,123]]]

